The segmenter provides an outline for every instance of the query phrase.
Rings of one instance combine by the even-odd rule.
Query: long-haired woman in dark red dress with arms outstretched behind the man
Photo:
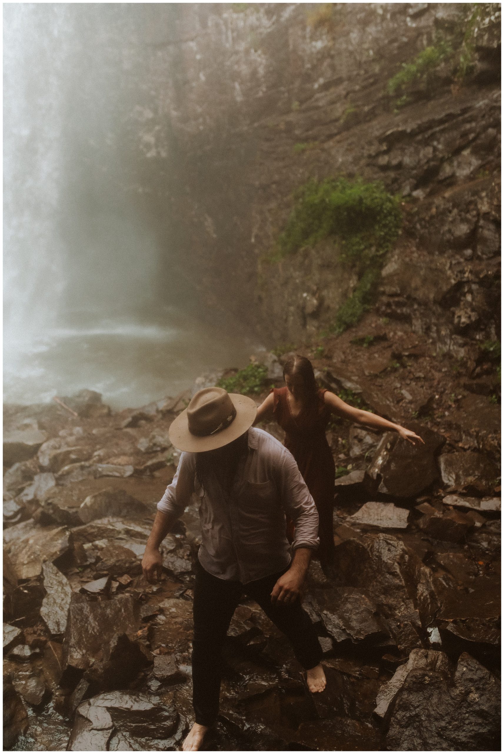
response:
[[[409,442],[423,443],[411,430],[381,416],[349,406],[328,390],[319,390],[313,366],[298,354],[283,367],[284,388],[274,388],[258,408],[256,423],[275,418],[286,433],[284,444],[292,452],[319,513],[319,559],[322,569],[332,575],[334,562],[334,458],[325,437],[325,428],[334,413],[358,424],[396,431]],[[292,526],[289,523],[289,526]],[[291,532],[292,534],[292,532]]]

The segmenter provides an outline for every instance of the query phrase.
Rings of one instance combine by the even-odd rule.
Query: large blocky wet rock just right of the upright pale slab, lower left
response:
[[[80,599],[77,599],[80,597]],[[72,594],[66,627],[67,662],[87,670],[110,654],[115,636],[135,633],[140,626],[139,605],[124,594],[103,602],[81,602]]]

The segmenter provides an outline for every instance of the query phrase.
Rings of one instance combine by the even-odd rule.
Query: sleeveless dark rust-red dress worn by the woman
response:
[[[324,393],[325,390],[319,390],[316,406],[301,409],[294,417],[289,406],[289,388],[273,389],[273,415],[286,432],[284,445],[292,452],[319,512],[319,558],[322,565],[331,564],[334,556],[335,477],[334,459],[325,437],[331,412],[324,403]]]

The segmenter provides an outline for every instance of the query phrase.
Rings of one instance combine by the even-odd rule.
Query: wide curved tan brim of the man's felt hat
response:
[[[191,453],[203,453],[206,450],[215,450],[228,443],[232,443],[237,437],[244,434],[252,427],[257,406],[252,398],[238,393],[229,393],[231,401],[237,409],[237,415],[231,421],[231,425],[217,434],[206,435],[206,437],[197,437],[191,434],[188,427],[188,409],[184,409],[176,419],[172,421],[168,435],[170,442],[179,450],[185,450]]]

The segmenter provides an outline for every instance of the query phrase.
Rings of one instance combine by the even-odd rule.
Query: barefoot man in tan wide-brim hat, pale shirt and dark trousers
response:
[[[194,586],[195,722],[185,751],[200,748],[217,717],[221,648],[243,593],[289,637],[310,691],[325,687],[322,650],[299,599],[311,551],[319,544],[319,519],[291,453],[252,428],[256,410],[251,398],[206,388],[173,421],[170,440],[184,452],[157,504],[142,560],[145,578],[159,578],[160,543],[195,492],[202,541]],[[292,545],[286,514],[295,523]]]

